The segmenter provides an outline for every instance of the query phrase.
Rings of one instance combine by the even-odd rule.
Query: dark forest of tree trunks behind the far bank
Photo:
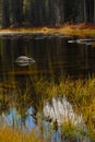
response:
[[[0,0],[0,26],[95,23],[95,0]]]

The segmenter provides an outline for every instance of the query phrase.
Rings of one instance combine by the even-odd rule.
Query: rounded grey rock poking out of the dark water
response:
[[[17,57],[15,62],[17,63],[17,66],[25,67],[35,63],[35,60],[26,56],[20,56]]]

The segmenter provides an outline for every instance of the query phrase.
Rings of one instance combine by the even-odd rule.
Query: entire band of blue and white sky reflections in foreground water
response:
[[[22,131],[31,131],[33,128],[36,128],[38,133],[43,132],[43,140],[48,138],[49,142],[68,142],[71,140],[71,134],[75,142],[91,142],[86,135],[87,128],[83,122],[83,118],[73,111],[71,104],[64,96],[61,99],[52,98],[51,104],[47,102],[44,106],[44,114],[43,111],[37,111],[36,119],[33,117],[34,113],[34,108],[29,107],[25,113],[26,117],[23,119],[17,109],[13,107],[10,108],[9,113],[2,113],[0,122],[21,129]],[[69,121],[72,121],[73,129],[69,130],[69,133],[66,134],[68,131],[64,130],[64,127],[62,128],[62,123],[67,125]]]

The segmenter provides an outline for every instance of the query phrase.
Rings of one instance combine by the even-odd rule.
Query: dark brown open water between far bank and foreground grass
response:
[[[39,74],[86,76],[95,72],[95,44],[68,43],[76,37],[48,38],[1,38],[0,74]],[[32,57],[36,62],[28,67],[19,67],[15,60],[20,56]]]

